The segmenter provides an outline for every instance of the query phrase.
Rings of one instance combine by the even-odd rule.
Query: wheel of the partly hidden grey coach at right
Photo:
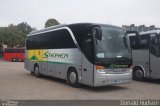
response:
[[[134,73],[133,73],[133,79],[135,79],[135,80],[143,80],[143,78],[144,78],[143,70],[140,69],[140,68],[135,69]]]

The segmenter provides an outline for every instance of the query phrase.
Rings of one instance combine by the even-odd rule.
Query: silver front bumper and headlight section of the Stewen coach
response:
[[[118,69],[125,70],[124,73],[113,72],[116,69],[105,69],[106,73],[98,73],[95,71],[94,74],[94,86],[107,86],[116,85],[123,83],[130,83],[132,81],[132,70],[130,68]]]

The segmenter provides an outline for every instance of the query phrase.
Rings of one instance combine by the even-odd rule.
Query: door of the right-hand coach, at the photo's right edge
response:
[[[156,34],[150,37],[150,77],[160,78],[160,37]]]

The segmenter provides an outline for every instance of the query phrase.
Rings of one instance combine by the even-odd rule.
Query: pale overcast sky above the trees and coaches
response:
[[[160,0],[0,0],[0,26],[27,22],[41,29],[49,18],[62,24],[160,27]]]

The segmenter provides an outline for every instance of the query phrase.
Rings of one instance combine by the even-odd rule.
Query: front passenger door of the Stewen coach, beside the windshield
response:
[[[83,59],[82,59],[82,83],[93,86],[94,66],[93,61],[93,42],[91,35],[83,39]]]

